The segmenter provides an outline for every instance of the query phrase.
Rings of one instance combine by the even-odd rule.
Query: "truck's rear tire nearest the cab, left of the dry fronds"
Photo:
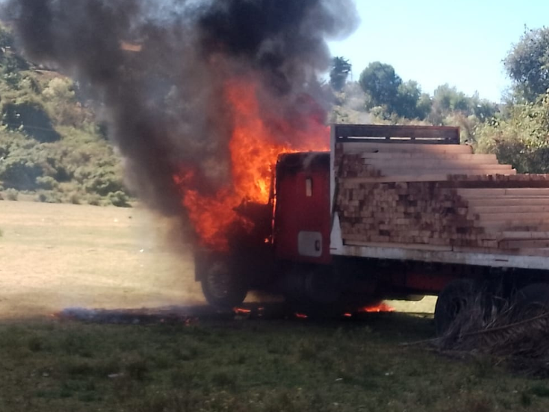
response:
[[[434,307],[434,327],[442,336],[449,330],[459,313],[467,310],[475,299],[474,282],[470,279],[456,279],[447,284]]]

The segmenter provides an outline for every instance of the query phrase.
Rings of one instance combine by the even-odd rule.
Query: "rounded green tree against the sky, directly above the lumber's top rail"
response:
[[[402,79],[395,73],[393,66],[371,62],[360,73],[358,82],[364,93],[369,96],[366,108],[386,106],[388,111],[394,111]]]

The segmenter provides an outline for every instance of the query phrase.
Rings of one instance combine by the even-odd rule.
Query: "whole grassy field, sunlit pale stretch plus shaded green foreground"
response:
[[[0,201],[0,411],[549,410],[545,380],[401,345],[432,337],[430,317],[43,316],[199,304],[188,254],[163,245],[168,227],[140,209]]]

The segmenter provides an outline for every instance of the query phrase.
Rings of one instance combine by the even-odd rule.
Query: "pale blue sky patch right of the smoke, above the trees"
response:
[[[356,0],[362,22],[351,36],[330,43],[349,58],[353,79],[369,62],[395,67],[432,94],[449,83],[467,94],[500,101],[509,87],[502,59],[529,28],[549,26],[542,0]]]

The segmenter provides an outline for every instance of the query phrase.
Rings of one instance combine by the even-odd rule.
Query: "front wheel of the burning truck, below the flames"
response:
[[[218,309],[231,309],[242,304],[248,289],[242,279],[224,262],[213,262],[201,276],[202,293],[207,302]]]

